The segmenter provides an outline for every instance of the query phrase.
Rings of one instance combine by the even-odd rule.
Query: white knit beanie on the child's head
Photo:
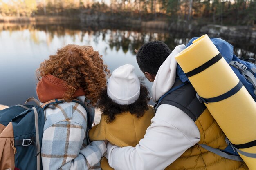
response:
[[[108,79],[108,97],[117,104],[132,104],[139,98],[140,82],[133,71],[134,66],[126,64],[115,69]]]

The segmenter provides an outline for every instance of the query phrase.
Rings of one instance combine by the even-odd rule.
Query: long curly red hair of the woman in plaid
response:
[[[91,46],[69,44],[40,64],[37,78],[40,80],[43,75],[51,74],[67,82],[67,91],[63,94],[67,102],[74,98],[76,90],[82,88],[95,106],[100,92],[106,87],[106,73],[110,75],[101,58],[102,55]]]

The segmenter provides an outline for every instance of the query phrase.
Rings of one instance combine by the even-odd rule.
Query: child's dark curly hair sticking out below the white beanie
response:
[[[115,115],[129,111],[132,115],[142,117],[145,113],[145,110],[148,110],[148,101],[150,100],[149,92],[146,86],[143,84],[140,85],[140,95],[139,98],[132,104],[121,105],[117,104],[115,101],[110,99],[107,94],[107,89],[104,89],[101,92],[101,97],[98,101],[98,108],[101,110],[103,115],[108,115],[107,123],[115,120]]]

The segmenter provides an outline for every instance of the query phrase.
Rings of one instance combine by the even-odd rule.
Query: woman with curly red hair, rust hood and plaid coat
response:
[[[44,170],[101,169],[99,161],[106,145],[103,141],[89,144],[87,137],[88,119],[94,119],[92,106],[106,87],[109,73],[101,57],[90,46],[69,44],[40,64],[36,88],[40,102],[66,101],[45,109],[41,148]],[[83,102],[89,113],[72,102],[74,98]]]

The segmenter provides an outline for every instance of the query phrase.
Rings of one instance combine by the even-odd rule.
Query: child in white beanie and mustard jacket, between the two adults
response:
[[[126,64],[112,72],[98,102],[101,120],[89,131],[90,141],[108,140],[120,147],[135,147],[144,137],[155,111],[148,105],[149,92],[134,69]],[[101,160],[101,168],[113,170],[105,157]]]

